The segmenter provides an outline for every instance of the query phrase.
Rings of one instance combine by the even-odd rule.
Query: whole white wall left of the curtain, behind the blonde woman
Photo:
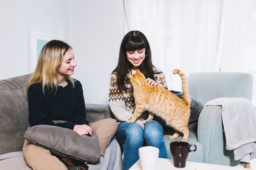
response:
[[[28,74],[29,31],[56,35],[73,47],[74,78],[85,103],[108,104],[110,74],[124,36],[122,0],[6,0],[0,2],[0,79]]]

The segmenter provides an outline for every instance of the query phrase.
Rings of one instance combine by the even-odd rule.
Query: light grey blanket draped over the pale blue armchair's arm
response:
[[[234,150],[234,160],[250,163],[250,153],[256,151],[256,109],[245,98],[220,97],[205,106],[222,106],[222,124],[226,149]]]

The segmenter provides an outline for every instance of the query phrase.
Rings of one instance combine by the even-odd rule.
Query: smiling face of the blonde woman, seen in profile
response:
[[[74,60],[74,53],[72,49],[67,50],[65,55],[63,56],[63,60],[61,64],[58,66],[58,77],[65,77],[66,75],[73,75],[74,68],[76,66],[76,62]]]

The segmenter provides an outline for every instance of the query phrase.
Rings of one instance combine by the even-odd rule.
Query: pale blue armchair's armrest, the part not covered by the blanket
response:
[[[198,118],[198,142],[204,146],[204,163],[236,166],[240,161],[234,161],[234,152],[225,149],[221,114],[221,106],[204,106]]]

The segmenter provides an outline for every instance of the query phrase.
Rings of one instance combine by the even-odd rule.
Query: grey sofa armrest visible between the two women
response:
[[[114,118],[108,104],[85,104],[86,119],[89,123],[106,118]]]

